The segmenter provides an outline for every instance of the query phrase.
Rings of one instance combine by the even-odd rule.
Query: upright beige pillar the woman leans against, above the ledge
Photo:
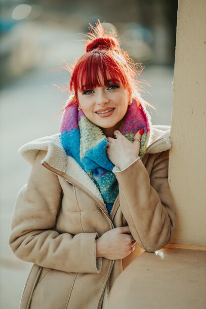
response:
[[[171,242],[206,244],[206,0],[179,0],[169,184],[177,211]]]

